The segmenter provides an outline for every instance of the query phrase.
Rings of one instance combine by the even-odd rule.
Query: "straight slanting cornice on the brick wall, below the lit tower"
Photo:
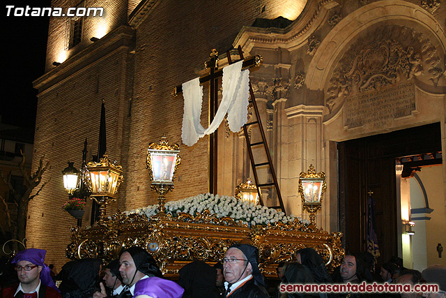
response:
[[[128,25],[118,27],[81,52],[63,61],[61,65],[49,70],[33,82],[33,87],[39,89],[39,94],[42,94],[49,87],[56,85],[78,70],[90,66],[98,59],[123,46],[129,49],[134,47],[134,30]]]

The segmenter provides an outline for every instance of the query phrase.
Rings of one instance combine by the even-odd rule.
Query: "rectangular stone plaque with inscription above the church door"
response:
[[[385,126],[392,120],[407,117],[416,110],[415,85],[403,82],[383,87],[379,91],[361,92],[346,97],[346,129],[360,126]]]

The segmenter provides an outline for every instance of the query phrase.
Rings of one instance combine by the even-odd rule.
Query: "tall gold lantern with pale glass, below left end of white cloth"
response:
[[[158,144],[148,145],[146,168],[152,181],[151,191],[155,191],[158,197],[158,210],[164,214],[164,202],[167,192],[174,189],[175,173],[181,163],[180,146],[178,144],[169,145],[164,133]]]

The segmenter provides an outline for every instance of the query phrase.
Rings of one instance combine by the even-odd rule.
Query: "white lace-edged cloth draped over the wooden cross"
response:
[[[207,129],[200,123],[203,87],[199,77],[183,84],[184,114],[181,138],[187,146],[198,142],[200,137],[210,135],[222,123],[228,114],[229,129],[234,133],[240,131],[247,122],[249,100],[249,70],[242,70],[243,61],[223,68],[222,102]]]

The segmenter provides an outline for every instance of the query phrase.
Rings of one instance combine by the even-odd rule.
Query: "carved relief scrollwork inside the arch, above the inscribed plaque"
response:
[[[329,110],[341,98],[405,80],[429,80],[433,85],[443,73],[436,48],[422,33],[408,27],[387,25],[358,38],[333,70],[326,88]]]

